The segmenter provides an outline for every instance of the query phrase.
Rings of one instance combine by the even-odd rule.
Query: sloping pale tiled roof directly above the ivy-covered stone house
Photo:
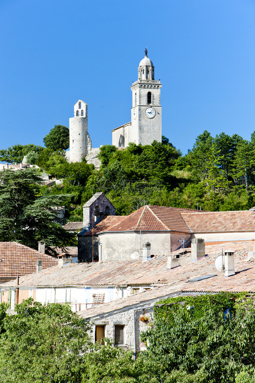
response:
[[[236,253],[238,254],[238,252]],[[236,274],[231,277],[223,277],[219,271],[212,267],[213,259],[210,257],[203,258],[196,262],[197,275],[191,270],[187,273],[187,267],[193,268],[194,264],[185,265],[185,275],[178,280],[178,275],[172,282],[166,285],[152,288],[151,290],[143,293],[128,296],[126,298],[120,298],[109,303],[103,303],[96,307],[89,308],[87,310],[80,311],[78,314],[82,318],[91,318],[101,314],[107,314],[111,311],[121,310],[128,308],[135,304],[148,304],[148,301],[159,301],[161,298],[165,298],[173,293],[179,293],[180,295],[200,294],[200,293],[218,293],[219,291],[247,291],[249,293],[255,292],[255,261],[247,261],[247,256],[235,255],[235,271]],[[179,271],[181,268],[175,268],[172,271]],[[184,266],[182,267],[184,269]],[[199,277],[206,274],[216,274],[216,277],[200,280],[198,282],[188,282],[190,279]],[[186,277],[186,278],[185,278]]]

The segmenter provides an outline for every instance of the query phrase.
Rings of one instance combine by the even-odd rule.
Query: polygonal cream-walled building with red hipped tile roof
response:
[[[106,197],[101,193],[101,198]],[[89,222],[90,228],[78,233],[80,262],[97,259],[99,243],[102,244],[103,262],[140,257],[142,244],[147,241],[151,244],[151,254],[166,255],[180,247],[181,239],[191,241],[192,232],[182,214],[201,214],[191,209],[146,205],[128,216],[115,216],[112,212],[110,216],[102,216],[101,219],[99,216],[92,228],[93,209],[86,210],[83,218],[84,226]]]

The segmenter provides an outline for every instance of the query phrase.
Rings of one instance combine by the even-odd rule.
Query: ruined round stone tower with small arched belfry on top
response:
[[[81,162],[91,151],[88,134],[88,105],[78,100],[74,105],[74,117],[69,118],[70,162]]]

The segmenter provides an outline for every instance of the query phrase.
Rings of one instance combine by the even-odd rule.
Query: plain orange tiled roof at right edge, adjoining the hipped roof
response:
[[[181,214],[192,232],[254,232],[255,213],[249,210]]]

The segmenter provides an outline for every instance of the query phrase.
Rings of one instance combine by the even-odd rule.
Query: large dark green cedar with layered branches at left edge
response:
[[[75,236],[58,222],[53,206],[63,205],[70,195],[40,196],[41,174],[36,169],[0,172],[0,241],[17,241],[34,249],[45,240],[48,246],[75,244]]]

